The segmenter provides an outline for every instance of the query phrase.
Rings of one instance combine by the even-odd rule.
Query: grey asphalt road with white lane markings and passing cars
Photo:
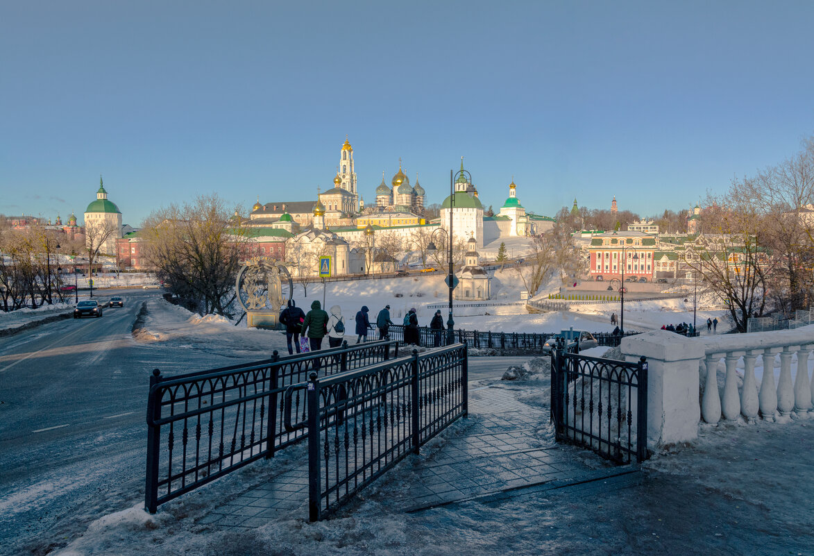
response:
[[[112,295],[125,307],[0,339],[0,554],[46,554],[143,500],[152,369],[239,362],[212,349],[136,342],[141,302],[159,292],[106,290],[100,299]],[[470,381],[526,359],[471,357]]]

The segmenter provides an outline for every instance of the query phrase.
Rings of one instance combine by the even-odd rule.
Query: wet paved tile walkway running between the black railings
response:
[[[571,449],[536,436],[549,421],[548,408],[519,401],[518,394],[527,392],[527,388],[520,388],[499,383],[471,390],[465,434],[444,439],[442,433],[440,440],[434,441],[434,449],[422,448],[422,453],[431,453],[423,462],[413,460],[414,479],[409,488],[391,494],[401,499],[401,507],[422,510],[590,475],[591,469],[572,457]],[[541,395],[544,392],[542,388],[539,391]],[[409,466],[411,457],[400,466]],[[396,466],[391,473],[398,469]],[[387,480],[387,475],[379,480]],[[200,523],[255,528],[292,512],[308,513],[305,462],[217,506]]]

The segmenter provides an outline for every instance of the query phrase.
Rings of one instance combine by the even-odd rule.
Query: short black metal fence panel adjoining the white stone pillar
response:
[[[618,463],[647,459],[647,362],[551,354],[551,419],[558,441]]]

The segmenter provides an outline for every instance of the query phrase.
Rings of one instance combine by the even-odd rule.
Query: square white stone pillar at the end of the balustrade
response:
[[[674,444],[698,436],[701,405],[698,366],[704,346],[674,332],[653,331],[622,339],[627,361],[647,357],[647,444]]]

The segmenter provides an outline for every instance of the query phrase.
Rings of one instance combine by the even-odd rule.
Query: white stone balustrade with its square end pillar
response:
[[[746,422],[755,422],[757,418],[814,417],[814,379],[808,370],[809,355],[814,350],[814,325],[790,331],[699,338],[653,331],[622,339],[621,348],[628,361],[647,357],[647,432],[651,448],[694,439],[699,418],[717,423],[722,418],[734,421],[740,416]],[[778,356],[780,374],[776,383]],[[792,382],[795,356],[797,373]],[[759,387],[755,379],[758,357],[762,358],[764,368]],[[724,361],[722,390],[721,361]],[[742,379],[738,373],[740,361],[743,361]],[[701,368],[707,371],[702,380]]]

